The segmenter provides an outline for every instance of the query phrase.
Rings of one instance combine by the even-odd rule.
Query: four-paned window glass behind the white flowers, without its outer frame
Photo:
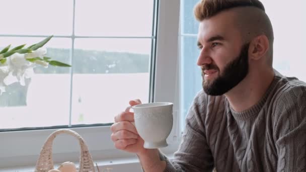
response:
[[[15,10],[25,19],[39,17],[31,23],[15,23],[11,21],[17,21],[19,15],[7,15],[0,46],[32,44],[42,39],[37,38],[40,35],[54,35],[46,46],[48,56],[72,67],[37,67],[25,87],[9,85],[0,97],[2,114],[6,114],[0,128],[111,123],[128,100],[149,101],[151,51],[156,39],[153,0],[31,0],[10,1],[6,6],[17,3],[21,5]],[[11,10],[6,8],[0,15]]]

